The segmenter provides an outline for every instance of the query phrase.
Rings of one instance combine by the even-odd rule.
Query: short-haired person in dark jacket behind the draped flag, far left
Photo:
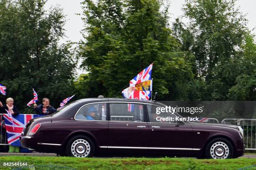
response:
[[[16,106],[13,105],[13,102],[14,100],[11,97],[6,99],[6,105],[3,105],[3,103],[0,102],[0,112],[8,114],[8,112],[6,111],[8,110],[12,114],[12,116],[17,116],[18,114],[20,114],[20,111]],[[19,152],[20,152],[20,147],[9,145],[9,153],[19,153]]]

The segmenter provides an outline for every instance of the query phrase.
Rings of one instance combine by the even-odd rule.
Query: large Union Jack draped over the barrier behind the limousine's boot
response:
[[[42,115],[19,114],[17,116],[9,117],[8,114],[3,114],[8,144],[13,146],[21,146],[19,138],[23,128],[25,128],[29,120],[39,116]]]

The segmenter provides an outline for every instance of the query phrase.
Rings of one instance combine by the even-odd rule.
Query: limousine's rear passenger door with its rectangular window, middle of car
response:
[[[108,148],[148,147],[148,124],[143,103],[110,102]]]

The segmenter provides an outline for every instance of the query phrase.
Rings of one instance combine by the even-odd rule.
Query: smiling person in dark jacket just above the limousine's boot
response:
[[[58,109],[55,109],[50,105],[50,100],[48,98],[43,98],[43,105],[34,104],[34,110],[39,115],[51,115],[56,112]]]

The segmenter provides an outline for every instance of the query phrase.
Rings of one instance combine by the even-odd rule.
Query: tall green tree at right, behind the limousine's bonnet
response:
[[[255,53],[249,58],[246,52],[246,44],[253,35],[246,27],[245,17],[234,7],[235,2],[186,0],[183,10],[189,23],[185,25],[177,19],[173,25],[182,50],[195,56],[195,79],[188,85],[192,99],[231,99],[230,88],[243,75],[255,71],[255,62],[251,62]],[[195,91],[199,94],[193,94]]]

